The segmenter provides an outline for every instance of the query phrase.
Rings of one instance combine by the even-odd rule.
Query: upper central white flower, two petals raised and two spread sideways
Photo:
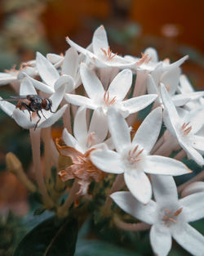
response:
[[[118,73],[112,83],[110,83],[107,91],[104,91],[100,79],[85,64],[81,65],[80,72],[83,86],[89,98],[66,93],[64,96],[65,100],[73,105],[86,106],[92,110],[102,109],[104,115],[106,115],[110,106],[114,106],[127,116],[143,110],[157,97],[157,95],[150,94],[123,101],[131,88],[131,70],[122,70]]]

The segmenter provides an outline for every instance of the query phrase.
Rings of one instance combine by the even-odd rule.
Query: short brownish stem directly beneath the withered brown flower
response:
[[[78,190],[79,190],[78,180],[75,179],[73,182],[73,186],[71,187],[71,189],[69,191],[67,200],[65,200],[64,204],[62,206],[60,206],[57,211],[57,214],[60,218],[64,218],[67,216],[69,207],[71,206],[71,204],[73,204],[73,201],[77,197]]]

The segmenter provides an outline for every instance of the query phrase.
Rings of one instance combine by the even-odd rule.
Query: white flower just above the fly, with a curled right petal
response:
[[[60,76],[55,66],[42,56],[40,52],[37,52],[36,67],[38,74],[40,75],[42,82],[29,77],[28,74],[24,74],[32,83],[35,88],[46,93],[54,93],[61,86],[65,86],[66,92],[72,92],[74,88],[73,78],[68,74],[62,74]]]

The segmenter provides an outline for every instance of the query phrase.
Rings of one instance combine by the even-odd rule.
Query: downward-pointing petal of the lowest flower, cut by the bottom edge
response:
[[[171,233],[168,228],[164,226],[157,227],[153,225],[150,233],[150,243],[153,248],[153,252],[157,256],[166,256],[171,250]]]

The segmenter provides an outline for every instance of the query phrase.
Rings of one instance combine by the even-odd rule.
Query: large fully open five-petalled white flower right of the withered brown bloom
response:
[[[108,119],[109,131],[117,152],[95,150],[91,153],[91,161],[104,172],[124,173],[126,186],[137,200],[147,204],[152,196],[151,184],[145,173],[188,173],[188,168],[180,161],[160,155],[149,155],[161,129],[161,107],[153,110],[144,119],[132,142],[130,130],[119,112],[110,109]]]

